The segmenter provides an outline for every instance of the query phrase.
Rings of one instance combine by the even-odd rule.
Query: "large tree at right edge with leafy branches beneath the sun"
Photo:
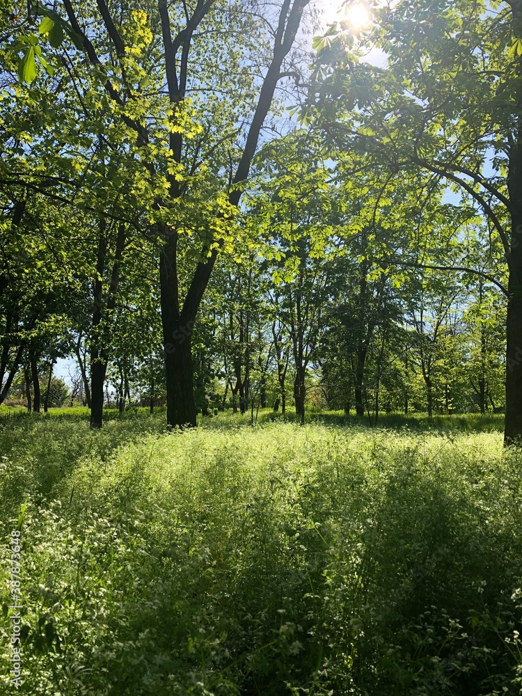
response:
[[[403,0],[374,8],[374,17],[363,43],[388,54],[386,69],[358,62],[347,52],[353,39],[335,28],[317,41],[330,68],[317,86],[326,127],[339,146],[386,162],[392,176],[422,168],[439,187],[461,191],[500,240],[509,269],[509,444],[522,436],[522,6]]]

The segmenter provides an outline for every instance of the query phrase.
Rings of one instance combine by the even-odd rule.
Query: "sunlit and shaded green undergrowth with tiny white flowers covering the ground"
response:
[[[107,415],[0,418],[2,691],[521,693],[522,450],[501,416]]]

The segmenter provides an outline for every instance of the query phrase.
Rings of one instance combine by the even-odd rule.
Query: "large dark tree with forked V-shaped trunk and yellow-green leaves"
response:
[[[160,0],[157,10],[151,9],[148,15],[141,10],[132,15],[134,25],[138,25],[134,33],[146,36],[148,51],[143,48],[145,42],[139,45],[132,34],[132,22],[125,13],[120,15],[103,1],[97,3],[97,8],[74,8],[70,0],[63,2],[68,22],[81,36],[93,69],[104,75],[108,108],[119,119],[122,138],[129,143],[129,159],[141,161],[143,176],[154,191],[149,221],[164,240],[160,283],[169,425],[196,424],[191,358],[194,322],[219,250],[232,244],[230,223],[308,1],[281,0],[274,10],[262,3],[245,7],[244,3],[218,0],[184,3],[180,9]],[[250,8],[252,14],[246,11]],[[259,11],[265,15],[262,26],[265,31],[269,28],[269,34],[264,33],[258,45],[264,49],[271,40],[271,55],[258,88],[245,65],[255,65],[263,61],[263,56],[253,57],[255,50],[246,45],[245,37],[252,31],[253,17]],[[104,26],[103,36],[89,37],[82,30],[84,18],[91,17]],[[219,41],[214,40],[215,26],[222,28]],[[236,47],[239,42],[243,57],[233,52],[232,42]],[[207,62],[211,56],[214,70]],[[161,70],[157,68],[158,58]],[[237,73],[231,74],[239,77],[235,84],[223,85],[221,70],[225,66],[230,70],[229,61],[237,66]],[[164,81],[168,100],[157,111]],[[147,97],[144,82],[148,83]],[[226,100],[216,104],[218,82],[221,88],[226,87],[223,91],[230,100],[228,111],[218,108]],[[196,106],[189,98],[191,90],[193,94],[197,90],[205,94]],[[240,109],[238,124],[238,96],[248,92],[257,96],[245,100],[248,108]],[[153,99],[148,96],[151,93]],[[150,126],[151,117],[164,123],[162,132]],[[243,136],[243,144],[238,136]],[[189,143],[191,140],[193,143]],[[200,202],[203,205],[197,205]],[[190,271],[187,266],[180,267],[187,230],[194,239]],[[181,331],[187,340],[173,342],[173,336]]]

